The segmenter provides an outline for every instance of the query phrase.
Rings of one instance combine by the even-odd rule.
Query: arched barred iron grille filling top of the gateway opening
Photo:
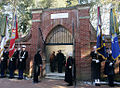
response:
[[[48,35],[46,45],[73,45],[72,34],[63,26],[56,26]]]

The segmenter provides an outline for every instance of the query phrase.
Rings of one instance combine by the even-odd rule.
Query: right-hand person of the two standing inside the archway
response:
[[[61,52],[61,50],[59,50],[57,54],[58,73],[62,73],[64,61],[65,61],[65,56]]]

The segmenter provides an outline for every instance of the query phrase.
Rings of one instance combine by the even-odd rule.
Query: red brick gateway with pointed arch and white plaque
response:
[[[49,72],[49,54],[61,49],[67,56],[74,50],[77,79],[90,79],[90,36],[89,5],[70,8],[32,9],[32,37],[28,41],[30,68],[38,48],[42,49],[44,75]],[[74,27],[73,27],[74,23]],[[74,29],[74,33],[73,33]],[[31,71],[31,69],[30,69]]]

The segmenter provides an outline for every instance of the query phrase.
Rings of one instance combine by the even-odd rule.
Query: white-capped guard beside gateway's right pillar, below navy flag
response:
[[[95,83],[96,86],[100,86],[100,70],[101,70],[101,61],[102,57],[97,54],[97,47],[93,47],[93,51],[91,52],[92,62],[91,62],[91,78],[92,82]]]

